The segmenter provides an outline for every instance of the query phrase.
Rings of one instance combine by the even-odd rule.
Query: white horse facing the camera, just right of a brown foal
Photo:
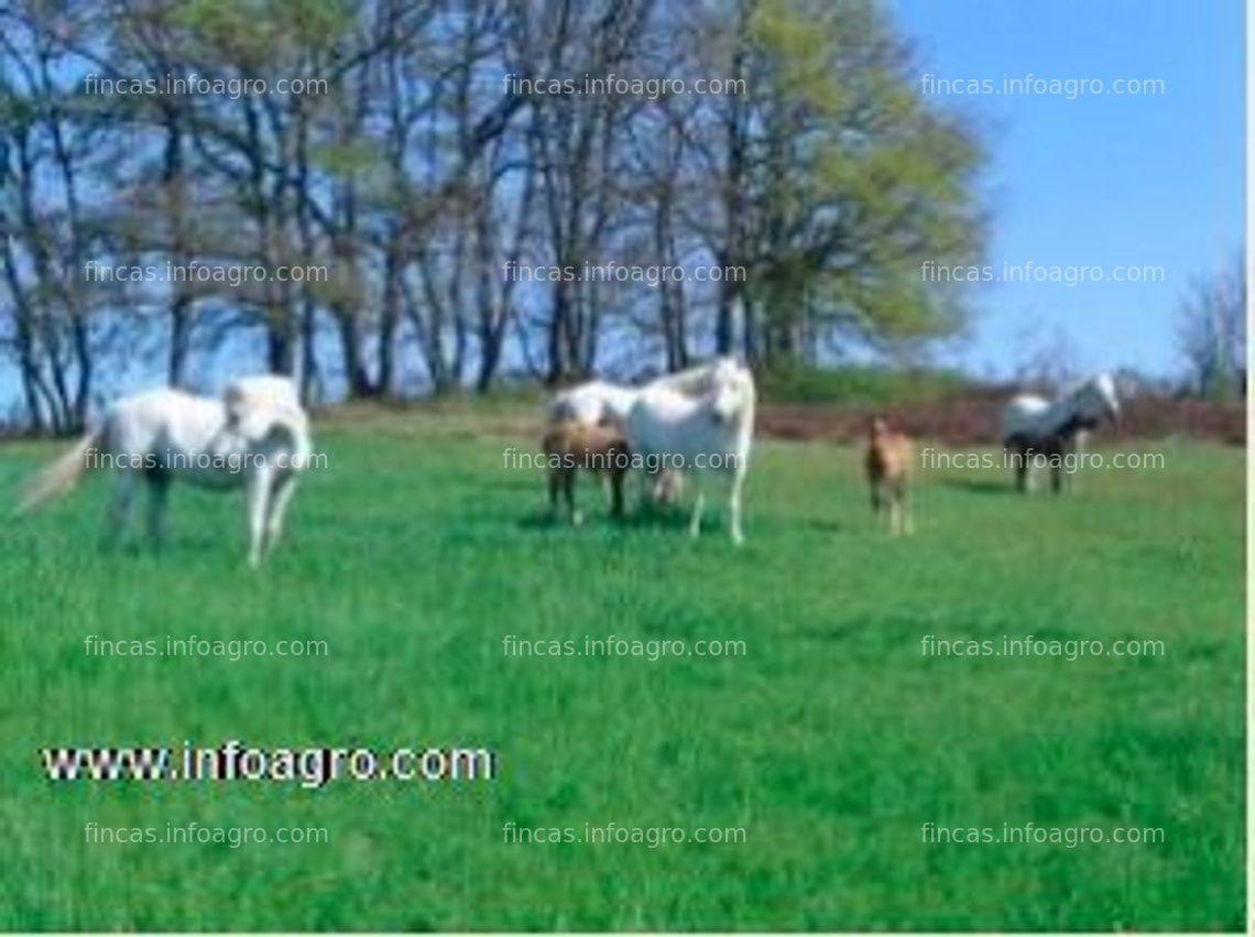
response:
[[[640,389],[628,411],[628,446],[634,457],[697,477],[689,533],[702,531],[705,480],[728,484],[728,528],[734,543],[740,530],[742,491],[754,436],[757,392],[748,369],[730,358],[708,366],[707,389],[684,393],[674,382],[659,381]]]

